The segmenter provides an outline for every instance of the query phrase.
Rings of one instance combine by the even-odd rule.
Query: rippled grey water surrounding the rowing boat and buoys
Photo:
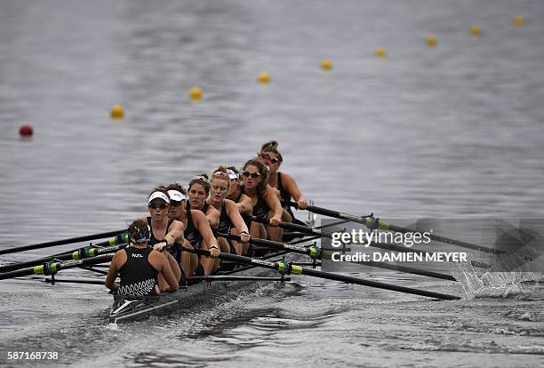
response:
[[[324,207],[541,218],[543,15],[536,0],[2,2],[0,248],[123,228],[156,184],[242,164],[270,139]],[[109,119],[115,104],[123,121]],[[0,287],[1,350],[58,348],[62,364],[534,366],[544,354],[535,285],[434,302],[301,278],[119,327],[104,324],[100,286]]]

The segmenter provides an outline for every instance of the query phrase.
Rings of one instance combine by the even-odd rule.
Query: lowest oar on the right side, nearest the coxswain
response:
[[[210,256],[210,251],[204,251],[201,249],[188,249],[182,246],[181,250],[185,252],[191,252],[191,253],[208,256],[208,257]],[[425,296],[429,298],[443,299],[443,300],[459,300],[460,299],[460,297],[458,296],[443,294],[440,292],[427,292],[424,290],[412,289],[410,287],[405,287],[405,286],[384,284],[384,283],[379,283],[377,281],[364,280],[362,278],[332,274],[329,272],[318,271],[316,269],[301,268],[300,266],[296,264],[292,264],[286,261],[268,262],[267,260],[257,260],[254,258],[238,256],[238,255],[228,254],[228,253],[220,253],[218,258],[220,258],[220,260],[231,260],[233,262],[242,263],[246,265],[276,269],[277,271],[279,271],[280,273],[283,273],[284,275],[290,275],[290,274],[308,275],[308,276],[324,278],[327,280],[340,281],[341,283],[346,283],[346,284],[359,284],[364,286],[375,287],[378,289],[391,290],[394,292],[405,292],[408,294],[415,294],[415,295]]]

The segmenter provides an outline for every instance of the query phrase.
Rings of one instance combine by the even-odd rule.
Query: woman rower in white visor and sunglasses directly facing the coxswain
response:
[[[170,196],[164,187],[154,188],[148,196],[148,210],[150,216],[147,217],[148,227],[150,229],[150,239],[148,245],[158,252],[163,252],[164,257],[170,263],[172,271],[181,284],[185,284],[185,278],[188,275],[188,261],[181,260],[180,252],[177,260],[167,248],[175,243],[183,244],[183,224],[180,221],[168,218],[170,208]],[[181,265],[180,265],[181,264]],[[159,277],[159,286],[162,287],[164,280]]]

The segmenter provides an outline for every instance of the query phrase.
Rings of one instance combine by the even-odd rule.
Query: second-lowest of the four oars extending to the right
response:
[[[231,235],[231,234],[221,234],[221,233],[219,233],[218,236],[226,237],[228,239],[233,239],[233,240],[236,240],[237,242],[241,241],[240,236],[235,236],[235,235]],[[304,248],[304,247],[293,246],[293,245],[289,245],[289,244],[273,242],[271,240],[253,239],[253,238],[250,239],[250,243],[255,244],[255,245],[264,246],[264,247],[271,248],[271,249],[279,249],[279,250],[286,250],[286,251],[300,253],[300,254],[308,254],[308,256],[310,256],[312,259],[316,259],[316,260],[319,260],[319,259],[322,259],[322,258],[326,259],[326,260],[331,259],[330,254],[327,254],[327,252],[325,252],[325,254],[322,254],[321,247],[313,247],[312,246],[312,247],[309,247],[309,248]],[[455,277],[453,277],[451,275],[445,275],[445,274],[441,274],[441,273],[433,272],[433,271],[426,271],[424,269],[419,269],[419,268],[412,268],[412,267],[406,267],[406,266],[397,266],[397,265],[394,265],[394,264],[389,264],[389,263],[384,263],[384,262],[375,262],[375,261],[372,261],[372,260],[365,261],[365,262],[356,262],[356,263],[359,264],[359,265],[362,265],[362,266],[392,269],[392,270],[399,271],[399,272],[404,272],[404,273],[407,273],[407,274],[434,277],[434,278],[439,278],[439,279],[442,279],[442,280],[457,281],[455,279]]]

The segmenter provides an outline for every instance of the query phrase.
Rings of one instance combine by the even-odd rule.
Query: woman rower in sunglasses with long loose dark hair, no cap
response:
[[[274,188],[268,184],[268,168],[259,159],[252,158],[244,164],[242,172],[244,184],[240,190],[252,200],[252,212],[259,220],[269,220],[269,226],[263,227],[260,222],[253,222],[250,233],[252,237],[279,242],[282,238],[282,228],[277,225],[282,220],[284,209],[276,196]]]

